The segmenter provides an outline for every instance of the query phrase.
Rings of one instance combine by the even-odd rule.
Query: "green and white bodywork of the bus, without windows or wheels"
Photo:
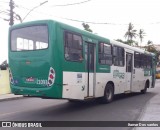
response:
[[[113,84],[114,94],[139,92],[146,81],[149,81],[149,87],[153,86],[153,69],[134,67],[134,52],[145,53],[140,49],[51,20],[23,23],[10,30],[41,24],[48,26],[48,48],[16,52],[9,47],[10,82],[14,94],[84,100],[102,97],[108,83]],[[66,58],[66,35],[81,37],[81,61]],[[124,48],[124,65],[100,64],[100,42]],[[131,72],[126,72],[127,54],[131,56]]]

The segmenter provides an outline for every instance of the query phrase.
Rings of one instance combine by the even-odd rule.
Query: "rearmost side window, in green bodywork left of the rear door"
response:
[[[82,61],[82,38],[79,35],[65,32],[65,59]]]

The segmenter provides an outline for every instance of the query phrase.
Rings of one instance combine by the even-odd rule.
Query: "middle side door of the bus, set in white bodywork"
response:
[[[126,53],[126,87],[125,91],[130,91],[132,87],[132,72],[133,72],[133,54]]]

